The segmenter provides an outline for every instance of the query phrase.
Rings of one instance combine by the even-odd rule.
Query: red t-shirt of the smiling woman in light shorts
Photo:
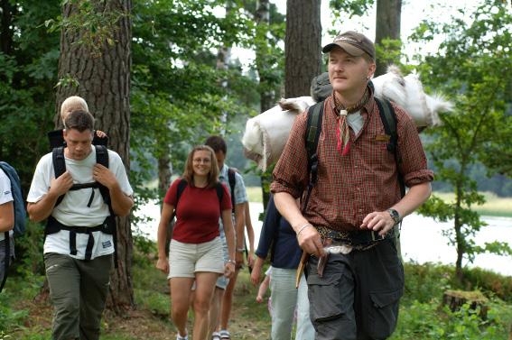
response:
[[[176,207],[178,184],[181,180],[172,182],[163,199],[163,202],[172,207]],[[176,225],[172,239],[184,244],[202,244],[219,236],[220,207],[222,210],[231,210],[228,188],[224,184],[222,188],[224,195],[219,204],[216,188],[194,188],[187,185],[176,207]]]

